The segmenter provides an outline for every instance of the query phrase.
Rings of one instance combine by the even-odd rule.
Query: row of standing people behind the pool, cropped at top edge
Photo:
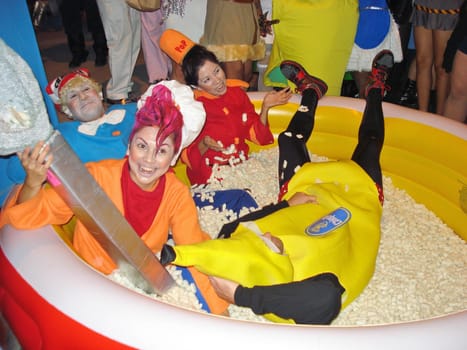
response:
[[[328,82],[330,95],[359,97],[371,57],[388,48],[395,54],[396,66],[387,102],[465,120],[464,0],[325,2],[332,13],[311,1],[305,6],[291,1],[284,7],[274,0],[162,0],[159,9],[143,12],[125,0],[113,1],[109,8],[106,0],[80,0],[73,5],[49,0],[44,16],[48,12],[59,17],[55,26],[67,35],[70,68],[86,61],[89,51],[84,39],[86,31],[91,34],[96,66],[109,64],[110,79],[103,89],[109,104],[138,99],[132,74],[140,48],[148,83],[183,81],[158,43],[162,32],[173,28],[213,51],[227,78],[248,82],[250,91],[287,85],[274,61],[292,55],[313,66],[305,68]],[[39,2],[29,3],[31,14],[37,16],[34,9]],[[316,37],[310,40],[300,33]],[[265,61],[266,72],[261,69]]]

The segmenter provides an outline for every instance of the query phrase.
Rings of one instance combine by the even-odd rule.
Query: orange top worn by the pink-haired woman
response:
[[[121,213],[124,208],[120,177],[124,162],[124,160],[110,159],[86,164],[89,172]],[[15,204],[18,192],[4,206],[0,227],[11,224],[17,229],[31,229],[48,224],[62,225],[73,216],[71,209],[51,188],[42,189],[37,196],[27,202]],[[209,235],[200,228],[197,210],[188,187],[173,173],[167,173],[159,210],[152,225],[141,239],[154,253],[157,253],[167,242],[169,231],[175,244],[191,244],[210,239]],[[107,252],[80,221],[77,221],[75,226],[73,246],[81,257],[97,270],[109,274],[116,268]],[[216,314],[224,312],[228,303],[217,296],[207,276],[194,268],[190,268],[190,272],[211,312]]]

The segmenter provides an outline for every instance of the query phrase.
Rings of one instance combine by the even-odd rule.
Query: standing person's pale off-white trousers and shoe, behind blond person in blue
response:
[[[141,15],[125,0],[97,0],[97,5],[109,48],[110,80],[104,89],[106,102],[135,102],[131,78],[141,47]]]

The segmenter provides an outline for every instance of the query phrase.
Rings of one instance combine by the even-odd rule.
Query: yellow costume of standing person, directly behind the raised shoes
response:
[[[324,80],[328,96],[340,96],[358,22],[358,0],[273,0],[274,41],[264,73],[267,86],[293,83],[280,72],[284,60],[300,62]]]

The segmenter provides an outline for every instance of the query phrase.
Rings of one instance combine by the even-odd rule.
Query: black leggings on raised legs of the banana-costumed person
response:
[[[384,142],[384,115],[380,89],[371,89],[358,131],[358,144],[352,160],[378,184],[383,187],[379,157]],[[303,92],[300,107],[287,129],[280,133],[279,143],[279,185],[287,183],[297,169],[310,161],[306,143],[315,125],[318,96],[312,89]]]

